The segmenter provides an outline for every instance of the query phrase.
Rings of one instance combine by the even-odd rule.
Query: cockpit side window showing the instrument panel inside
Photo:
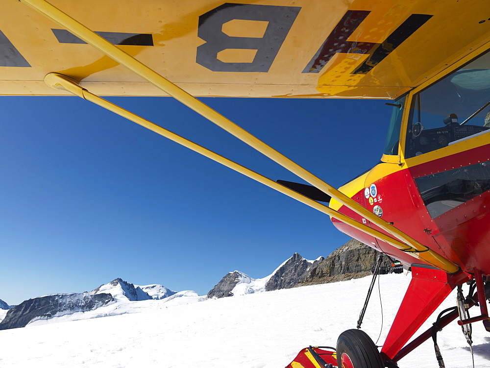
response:
[[[456,144],[490,129],[490,52],[414,96],[405,157]]]

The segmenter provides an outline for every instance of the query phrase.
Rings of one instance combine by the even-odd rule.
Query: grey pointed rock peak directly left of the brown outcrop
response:
[[[288,259],[271,275],[266,283],[266,291],[294,288],[309,270],[317,267],[321,261],[323,261],[323,257],[312,263],[298,253],[294,253],[293,257]]]

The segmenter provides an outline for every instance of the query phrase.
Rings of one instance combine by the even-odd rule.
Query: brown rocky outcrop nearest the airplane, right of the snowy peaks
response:
[[[379,254],[370,246],[352,239],[315,264],[298,282],[298,286],[326,284],[370,275]],[[391,262],[384,257],[381,273],[387,273],[390,269]]]

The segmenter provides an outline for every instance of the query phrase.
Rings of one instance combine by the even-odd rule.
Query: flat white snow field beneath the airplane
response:
[[[139,313],[3,330],[0,367],[285,367],[302,348],[335,346],[342,331],[355,328],[370,279],[175,306],[139,301],[133,303],[149,302]],[[409,282],[410,275],[380,276],[384,324],[378,344],[384,341]],[[455,296],[449,296],[420,331],[454,303]],[[470,310],[472,316],[478,312]],[[380,327],[376,286],[362,328],[376,341]],[[481,323],[473,324],[475,367],[490,367],[489,336]],[[438,334],[438,343],[447,368],[472,367],[456,322]],[[399,366],[437,368],[432,340]]]

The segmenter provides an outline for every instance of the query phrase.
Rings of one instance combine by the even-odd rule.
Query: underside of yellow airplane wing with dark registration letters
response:
[[[490,41],[481,0],[50,0],[194,96],[397,98]],[[0,95],[165,96],[18,0],[0,3]]]

